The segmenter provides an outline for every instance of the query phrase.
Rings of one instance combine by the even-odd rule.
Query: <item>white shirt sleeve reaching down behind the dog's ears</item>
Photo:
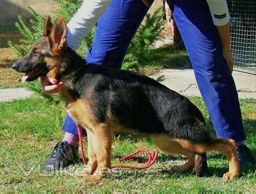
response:
[[[110,0],[84,0],[67,23],[67,43],[74,51],[107,9]]]

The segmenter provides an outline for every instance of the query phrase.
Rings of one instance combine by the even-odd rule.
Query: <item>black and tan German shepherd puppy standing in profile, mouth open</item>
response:
[[[63,17],[52,24],[48,16],[43,37],[12,67],[25,73],[23,82],[41,76],[64,82],[66,111],[87,131],[88,164],[98,174],[94,179],[101,180],[105,174],[100,169],[111,166],[115,132],[149,137],[162,151],[185,155],[188,161],[173,171],[195,168],[201,176],[207,171],[206,152],[220,151],[229,160],[223,178],[239,176],[235,141],[210,134],[201,111],[186,97],[138,73],[84,65],[66,36]]]

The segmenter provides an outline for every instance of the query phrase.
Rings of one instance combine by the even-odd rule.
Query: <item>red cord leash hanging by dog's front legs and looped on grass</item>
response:
[[[87,160],[84,156],[84,147],[83,147],[83,137],[82,137],[82,131],[80,127],[77,127],[78,130],[78,134],[79,134],[79,144],[80,144],[80,149],[81,149],[81,155],[82,155],[82,160],[84,162],[84,164],[87,164]],[[134,155],[139,154],[140,152],[144,152],[145,154],[148,155],[148,162],[146,163],[145,166],[133,166],[133,165],[112,165],[110,168],[132,168],[132,169],[138,169],[138,170],[142,170],[145,168],[150,167],[152,164],[154,164],[157,160],[157,155],[158,155],[158,150],[154,149],[152,154],[149,153],[149,151],[147,151],[146,149],[140,148],[137,151],[134,151],[133,153],[120,158],[116,158],[117,162],[121,162],[123,160],[129,160],[129,159],[137,159],[137,160],[143,160],[146,161],[147,159],[144,157],[134,157]]]

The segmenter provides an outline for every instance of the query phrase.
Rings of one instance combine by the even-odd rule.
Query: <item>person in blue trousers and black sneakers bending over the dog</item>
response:
[[[229,12],[226,0],[171,0],[168,2],[188,51],[198,87],[218,137],[237,143],[241,167],[256,168],[256,161],[245,145],[236,86],[231,75]],[[76,50],[97,22],[93,46],[86,63],[121,68],[125,52],[142,22],[148,6],[141,0],[90,0],[67,24],[67,43]],[[46,93],[56,93],[63,83],[41,78]],[[47,169],[66,167],[78,159],[78,132],[67,116],[59,142],[44,162]]]

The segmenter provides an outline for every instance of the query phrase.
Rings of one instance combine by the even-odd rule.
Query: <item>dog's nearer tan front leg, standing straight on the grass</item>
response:
[[[88,179],[102,180],[111,167],[111,146],[113,142],[113,133],[107,127],[107,125],[100,124],[93,129],[92,141],[93,146],[96,147],[96,160],[98,166],[94,174],[88,177]],[[93,149],[95,150],[95,148]]]

